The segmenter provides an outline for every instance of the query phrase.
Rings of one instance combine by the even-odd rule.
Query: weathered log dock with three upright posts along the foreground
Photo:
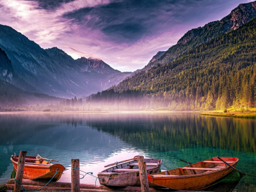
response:
[[[47,184],[47,181],[37,181],[37,180],[29,180],[29,179],[22,179],[24,164],[26,159],[26,153],[24,151],[20,151],[19,160],[18,160],[18,168],[16,173],[16,178],[22,183],[23,187],[28,191],[35,191]],[[113,186],[103,186],[94,184],[80,184],[79,180],[79,159],[71,159],[71,183],[68,182],[50,182],[40,191],[72,191],[72,192],[79,192],[79,191],[143,191],[143,192],[157,192],[157,191],[173,191],[171,189],[156,189],[156,188],[149,188],[148,186],[148,177],[147,177],[147,169],[145,166],[145,161],[143,156],[138,156],[138,166],[140,169],[140,181],[141,187],[113,187]],[[20,192],[21,186],[19,182],[15,179],[9,179],[4,186],[8,190],[13,190],[14,192]],[[176,192],[185,192],[183,190],[176,191]],[[190,191],[193,192],[193,191]],[[196,191],[194,191],[196,192]],[[197,191],[198,192],[198,191]],[[200,191],[199,191],[200,192]],[[201,191],[203,192],[203,191]]]

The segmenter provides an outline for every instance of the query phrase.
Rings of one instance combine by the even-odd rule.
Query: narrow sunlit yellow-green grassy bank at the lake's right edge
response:
[[[237,117],[237,118],[256,118],[256,113],[254,112],[204,112],[200,115],[209,115],[209,116],[228,116],[228,117]]]

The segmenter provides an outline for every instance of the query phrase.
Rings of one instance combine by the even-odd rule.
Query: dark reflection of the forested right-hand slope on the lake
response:
[[[135,147],[166,152],[196,146],[256,152],[254,120],[211,118],[200,115],[115,116],[86,120]]]

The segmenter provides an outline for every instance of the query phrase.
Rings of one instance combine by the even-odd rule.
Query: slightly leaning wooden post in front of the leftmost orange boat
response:
[[[24,165],[25,165],[25,161],[26,161],[26,154],[27,154],[26,151],[20,150],[17,173],[16,173],[15,179],[19,180],[19,182],[21,182],[21,183],[22,183],[22,177],[23,177],[23,172],[24,172]],[[20,192],[21,186],[20,186],[19,182],[17,182],[15,180],[14,189],[13,189],[14,192]]]

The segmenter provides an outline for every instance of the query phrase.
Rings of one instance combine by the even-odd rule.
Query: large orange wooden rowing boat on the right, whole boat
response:
[[[239,161],[237,157],[221,157],[221,159],[234,167]],[[176,190],[202,190],[216,184],[232,171],[233,169],[223,161],[212,157],[182,168],[148,175],[148,184]]]

